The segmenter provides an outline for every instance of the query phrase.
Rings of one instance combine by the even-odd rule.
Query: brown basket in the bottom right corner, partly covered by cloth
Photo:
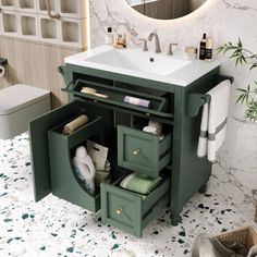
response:
[[[240,243],[243,244],[247,250],[254,245],[257,245],[257,233],[252,227],[243,227],[232,231],[228,231],[217,235],[221,243]]]

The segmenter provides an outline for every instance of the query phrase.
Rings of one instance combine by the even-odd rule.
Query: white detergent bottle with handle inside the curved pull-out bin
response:
[[[73,158],[73,166],[83,187],[90,195],[94,195],[96,169],[84,146],[76,148],[75,157]]]

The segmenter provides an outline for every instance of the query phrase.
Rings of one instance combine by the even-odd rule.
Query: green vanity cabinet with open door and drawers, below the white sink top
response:
[[[211,163],[196,155],[205,94],[224,77],[219,66],[187,86],[65,64],[70,103],[29,123],[35,200],[52,193],[91,211],[103,223],[142,236],[143,229],[164,207],[176,225],[191,197],[211,174]],[[82,93],[94,87],[106,98]],[[149,99],[149,108],[124,102],[125,96]],[[66,136],[63,124],[79,113],[89,122]],[[193,113],[193,114],[192,114]],[[143,132],[149,120],[161,122],[163,138]],[[88,138],[109,148],[112,180],[102,182],[95,196],[79,185],[72,158]],[[130,172],[161,176],[148,195],[125,191],[121,180]]]

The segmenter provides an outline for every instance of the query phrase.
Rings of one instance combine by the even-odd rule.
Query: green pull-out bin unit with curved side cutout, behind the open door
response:
[[[102,119],[91,118],[70,135],[61,133],[63,125],[48,132],[52,194],[96,212],[100,209],[100,194],[98,192],[91,196],[81,186],[72,164],[72,152],[76,146],[84,145],[87,138],[101,133]]]

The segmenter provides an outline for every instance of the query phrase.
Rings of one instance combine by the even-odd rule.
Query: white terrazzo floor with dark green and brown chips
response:
[[[136,238],[56,196],[34,203],[27,133],[0,139],[0,256],[191,256],[198,233],[257,229],[256,191],[243,186],[233,172],[215,164],[207,193],[187,203],[178,227],[170,224],[166,209]]]

